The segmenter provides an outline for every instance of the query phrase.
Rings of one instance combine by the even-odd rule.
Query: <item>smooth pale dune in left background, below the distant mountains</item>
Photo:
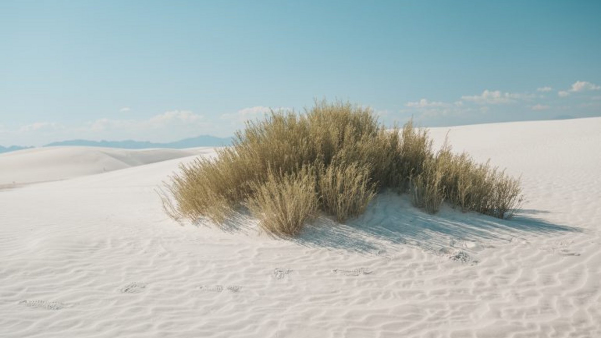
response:
[[[70,179],[197,155],[199,149],[43,147],[0,154],[0,187]]]

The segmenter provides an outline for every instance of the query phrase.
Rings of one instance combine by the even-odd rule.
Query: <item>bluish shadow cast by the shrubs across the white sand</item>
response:
[[[308,224],[301,236],[290,240],[306,247],[366,254],[382,254],[407,245],[440,253],[457,248],[479,250],[493,242],[507,243],[524,236],[581,232],[535,217],[548,213],[526,209],[511,220],[500,220],[443,206],[438,214],[430,215],[413,207],[406,194],[386,192],[377,195],[359,218],[340,224],[322,216]],[[242,209],[220,227],[225,232],[250,235],[257,232],[257,225],[248,210]]]

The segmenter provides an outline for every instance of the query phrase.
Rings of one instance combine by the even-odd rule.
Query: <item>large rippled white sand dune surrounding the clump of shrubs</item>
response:
[[[522,175],[514,220],[385,194],[296,241],[179,226],[154,189],[194,157],[0,191],[0,336],[601,337],[601,118],[449,130]]]

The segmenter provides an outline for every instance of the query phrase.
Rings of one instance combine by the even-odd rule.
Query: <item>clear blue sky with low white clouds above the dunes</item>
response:
[[[421,126],[601,116],[601,1],[0,1],[0,144],[232,135],[342,99]]]

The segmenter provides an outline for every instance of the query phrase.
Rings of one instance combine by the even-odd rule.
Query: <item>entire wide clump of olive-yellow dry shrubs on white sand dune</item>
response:
[[[233,146],[181,165],[165,186],[163,206],[173,218],[222,223],[247,207],[280,236],[297,235],[319,211],[338,221],[357,217],[384,189],[409,192],[432,213],[447,201],[507,218],[522,201],[519,180],[446,144],[434,152],[427,130],[410,121],[386,130],[369,108],[326,101],[305,114],[248,122]]]

